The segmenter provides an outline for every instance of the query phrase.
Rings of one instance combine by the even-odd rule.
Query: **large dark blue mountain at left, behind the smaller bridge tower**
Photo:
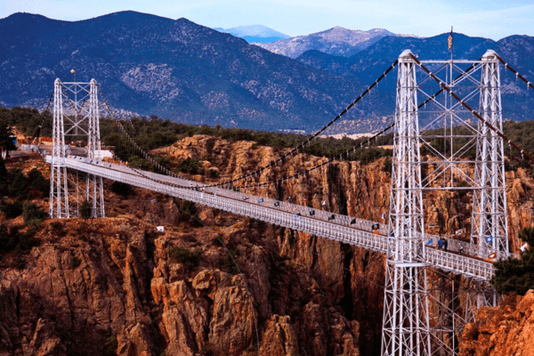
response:
[[[0,20],[0,104],[44,109],[53,81],[99,82],[110,105],[174,121],[256,129],[318,127],[360,84],[241,38],[138,12],[76,22]],[[352,117],[356,111],[351,113]]]

